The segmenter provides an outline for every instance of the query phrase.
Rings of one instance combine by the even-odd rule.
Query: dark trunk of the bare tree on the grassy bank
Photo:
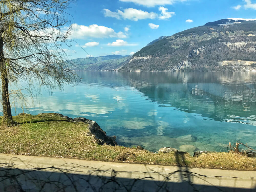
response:
[[[9,100],[9,91],[8,91],[8,71],[5,65],[4,52],[3,52],[3,38],[0,34],[0,72],[2,80],[2,104],[3,104],[3,122],[9,123],[12,122],[12,112]]]

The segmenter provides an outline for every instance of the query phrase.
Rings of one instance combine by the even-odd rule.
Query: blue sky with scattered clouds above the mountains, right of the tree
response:
[[[70,38],[93,57],[130,55],[159,36],[222,18],[256,18],[255,0],[77,0],[69,7]],[[88,57],[76,42],[69,58]]]

